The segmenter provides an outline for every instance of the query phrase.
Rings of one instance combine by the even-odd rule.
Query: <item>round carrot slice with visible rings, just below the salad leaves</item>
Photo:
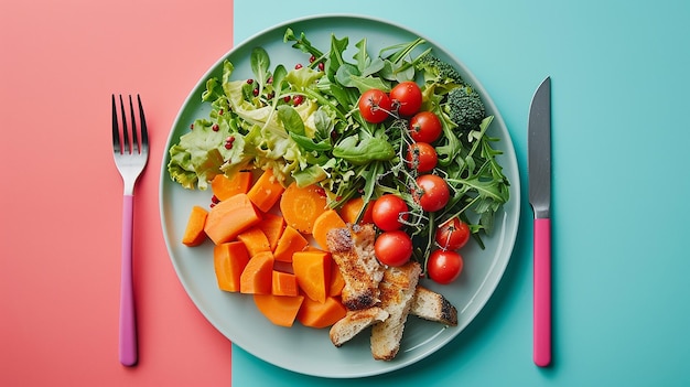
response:
[[[285,223],[302,234],[312,234],[314,221],[326,209],[326,197],[316,185],[301,189],[292,183],[280,200],[280,211]]]

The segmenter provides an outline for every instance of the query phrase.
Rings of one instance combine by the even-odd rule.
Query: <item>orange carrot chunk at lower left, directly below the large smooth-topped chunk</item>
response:
[[[249,254],[241,241],[228,241],[214,246],[213,262],[218,288],[238,292],[240,276],[248,261]]]

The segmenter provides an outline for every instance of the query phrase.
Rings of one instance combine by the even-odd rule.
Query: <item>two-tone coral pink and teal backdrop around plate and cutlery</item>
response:
[[[522,184],[511,261],[477,319],[429,358],[358,380],[298,375],[231,345],[181,286],[158,203],[170,128],[206,69],[263,29],[325,13],[385,19],[453,52],[500,109]],[[0,2],[0,385],[689,385],[688,20],[682,0]],[[526,123],[547,75],[554,364],[541,369]],[[134,204],[136,368],[117,359],[112,93],[141,95],[152,141]]]

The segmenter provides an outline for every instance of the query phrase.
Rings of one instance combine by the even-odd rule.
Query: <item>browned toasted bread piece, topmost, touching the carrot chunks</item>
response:
[[[378,284],[384,278],[384,267],[374,255],[375,236],[374,226],[369,224],[334,228],[326,235],[333,260],[345,281],[343,304],[351,311],[379,302]]]

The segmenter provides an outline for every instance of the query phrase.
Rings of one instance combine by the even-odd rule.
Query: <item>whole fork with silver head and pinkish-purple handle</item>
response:
[[[147,121],[143,116],[141,98],[139,103],[139,121],[141,126],[141,139],[137,135],[137,120],[132,97],[129,96],[129,112],[131,120],[131,141],[127,126],[127,114],[122,96],[119,96],[119,105],[122,118],[122,132],[118,123],[118,109],[115,94],[112,95],[112,154],[122,182],[125,183],[125,196],[122,202],[122,262],[120,278],[120,363],[133,366],[138,362],[137,345],[137,319],[134,312],[134,292],[132,281],[132,225],[134,184],[149,160],[149,133]]]

